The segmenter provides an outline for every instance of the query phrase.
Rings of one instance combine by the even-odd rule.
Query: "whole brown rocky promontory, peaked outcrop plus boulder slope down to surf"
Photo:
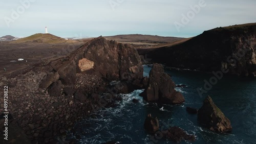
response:
[[[78,119],[113,102],[122,87],[109,89],[111,81],[136,87],[142,78],[143,66],[134,47],[98,37],[67,57],[14,78],[1,78],[1,86],[9,86],[8,110],[13,116],[9,125],[20,128],[33,143],[61,143],[64,139],[56,135],[67,134]],[[20,139],[10,141],[22,143]]]

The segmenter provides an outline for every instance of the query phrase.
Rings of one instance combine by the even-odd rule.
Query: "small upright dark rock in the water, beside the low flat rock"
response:
[[[157,117],[152,117],[151,114],[148,114],[145,122],[144,128],[148,133],[154,134],[159,130],[159,122]]]

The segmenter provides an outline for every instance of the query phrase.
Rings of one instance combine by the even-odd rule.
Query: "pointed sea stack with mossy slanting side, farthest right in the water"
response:
[[[203,106],[198,110],[198,121],[212,131],[229,132],[232,130],[229,119],[214,104],[210,96],[204,100]]]

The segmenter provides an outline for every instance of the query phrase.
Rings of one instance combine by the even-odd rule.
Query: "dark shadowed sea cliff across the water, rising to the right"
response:
[[[143,54],[172,67],[203,71],[223,69],[231,75],[256,77],[256,23],[204,31],[183,43]]]

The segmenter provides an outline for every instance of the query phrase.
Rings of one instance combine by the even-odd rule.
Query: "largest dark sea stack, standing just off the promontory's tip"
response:
[[[175,83],[164,72],[162,65],[154,63],[148,78],[148,84],[143,93],[143,99],[148,102],[163,104],[181,104],[185,102],[183,95],[175,90]]]

